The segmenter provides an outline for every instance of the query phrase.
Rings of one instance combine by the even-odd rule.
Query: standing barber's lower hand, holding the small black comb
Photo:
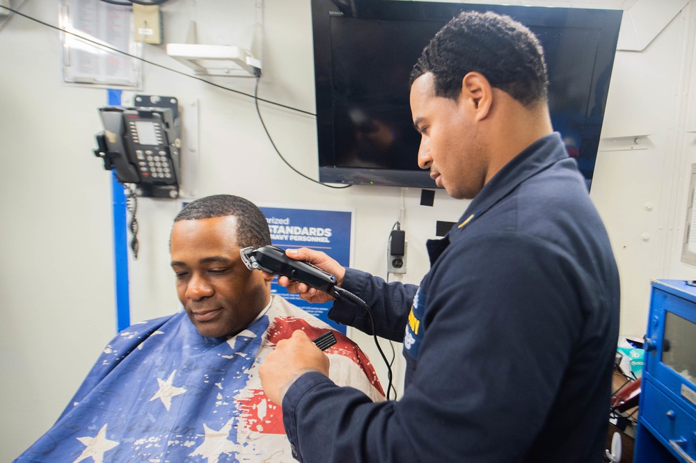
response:
[[[308,371],[329,376],[329,357],[324,355],[302,330],[295,330],[290,339],[278,341],[259,367],[261,386],[268,398],[280,405],[287,388]]]

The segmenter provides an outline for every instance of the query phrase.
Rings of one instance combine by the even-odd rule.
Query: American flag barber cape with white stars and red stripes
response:
[[[294,330],[329,325],[279,296],[246,330],[201,336],[180,311],[120,332],[53,427],[16,462],[292,462],[278,405],[258,366]],[[329,376],[372,400],[383,391],[369,359],[346,336],[324,351]]]

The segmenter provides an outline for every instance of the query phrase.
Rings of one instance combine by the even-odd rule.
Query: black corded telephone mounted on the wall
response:
[[[104,169],[115,170],[123,184],[135,184],[139,196],[179,196],[180,120],[177,100],[138,96],[148,106],[106,106],[99,112],[104,131],[98,133],[95,156]],[[159,106],[155,106],[159,105]]]

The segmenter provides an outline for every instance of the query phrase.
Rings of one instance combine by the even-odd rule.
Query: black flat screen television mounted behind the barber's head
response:
[[[509,15],[537,35],[553,128],[590,187],[621,10],[400,0],[312,0],[320,181],[436,188],[418,168],[409,75],[462,10]]]

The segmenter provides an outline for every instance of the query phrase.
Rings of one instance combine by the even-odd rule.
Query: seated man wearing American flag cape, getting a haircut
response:
[[[171,266],[184,311],[120,332],[54,426],[17,462],[293,461],[280,408],[258,366],[294,330],[315,338],[329,325],[271,296],[243,247],[271,243],[251,202],[215,195],[175,218]],[[369,360],[335,332],[330,377],[372,400],[383,392]]]

